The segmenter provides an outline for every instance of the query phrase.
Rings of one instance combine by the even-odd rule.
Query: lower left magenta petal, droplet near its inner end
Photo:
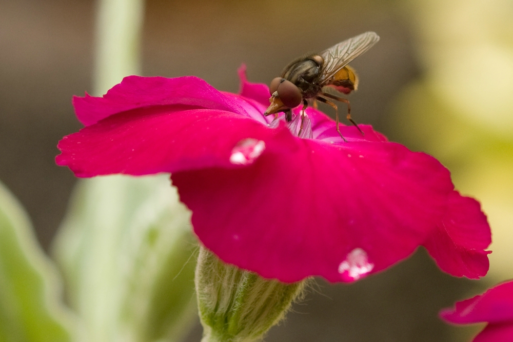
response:
[[[230,157],[241,140],[265,142],[282,129],[221,110],[154,106],[111,115],[65,136],[56,162],[78,177],[230,168],[237,165]]]

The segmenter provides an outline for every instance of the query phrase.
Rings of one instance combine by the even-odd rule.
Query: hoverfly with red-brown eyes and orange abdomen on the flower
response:
[[[308,100],[314,105],[314,101],[319,100],[335,109],[337,132],[346,141],[340,133],[338,107],[332,102],[332,100],[337,100],[347,105],[347,119],[363,134],[360,127],[351,118],[349,100],[327,93],[324,88],[330,87],[344,94],[357,90],[358,76],[348,64],[379,40],[380,37],[375,32],[369,31],[349,38],[319,54],[310,54],[295,59],[285,67],[281,77],[276,77],[271,81],[269,86],[271,93],[269,102],[271,104],[264,115],[285,112],[285,119],[290,122],[292,120],[291,108],[303,103],[302,130],[304,110],[308,106]]]

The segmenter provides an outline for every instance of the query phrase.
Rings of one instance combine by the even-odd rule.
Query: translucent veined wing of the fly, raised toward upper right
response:
[[[349,38],[321,52],[319,55],[324,59],[324,67],[320,83],[328,82],[340,69],[370,49],[379,40],[380,36],[376,32],[369,31]]]

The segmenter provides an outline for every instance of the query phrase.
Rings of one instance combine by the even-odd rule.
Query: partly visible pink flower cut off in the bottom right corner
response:
[[[456,303],[440,316],[454,324],[487,322],[488,325],[473,342],[513,341],[513,281],[489,289],[485,293]]]

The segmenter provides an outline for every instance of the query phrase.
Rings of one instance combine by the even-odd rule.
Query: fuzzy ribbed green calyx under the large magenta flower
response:
[[[195,274],[202,342],[260,340],[303,293],[305,280],[285,284],[223,263],[201,247]]]

